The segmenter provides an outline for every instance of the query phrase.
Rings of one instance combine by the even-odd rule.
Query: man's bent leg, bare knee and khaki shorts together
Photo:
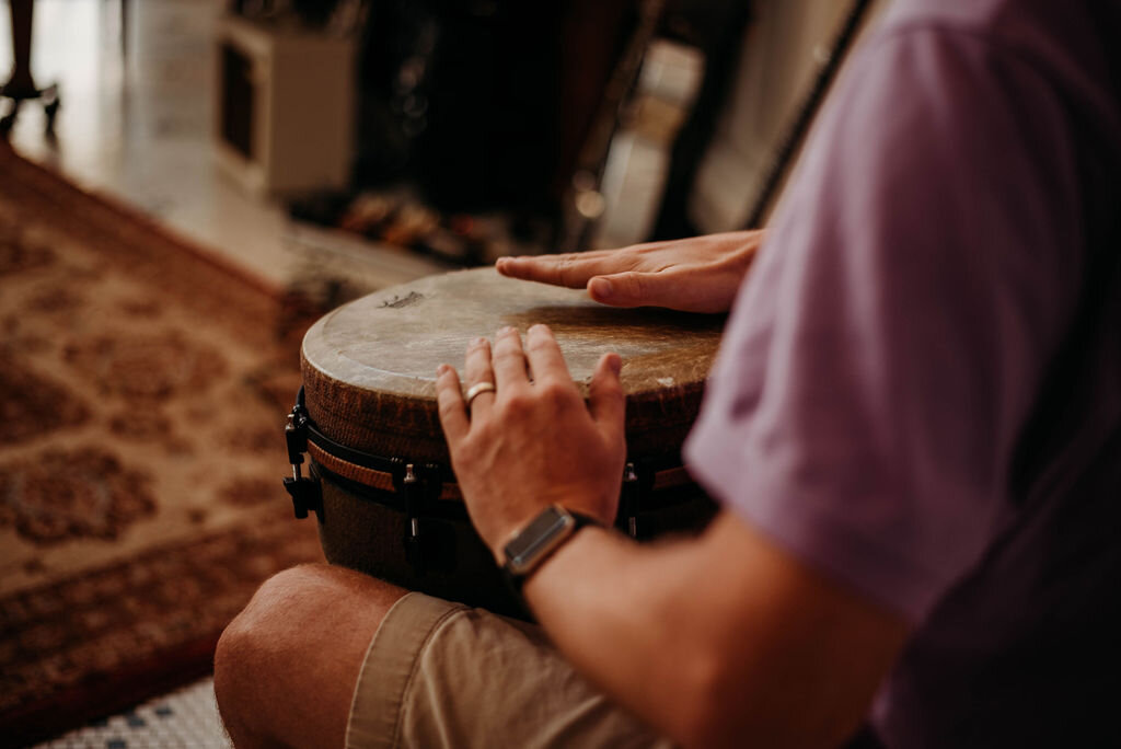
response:
[[[234,742],[669,746],[576,674],[538,627],[406,593],[325,565],[266,582],[215,656]]]

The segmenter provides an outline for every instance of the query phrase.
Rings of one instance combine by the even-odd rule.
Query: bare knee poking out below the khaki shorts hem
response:
[[[342,747],[370,640],[406,592],[327,565],[261,585],[214,655],[214,692],[234,743]]]

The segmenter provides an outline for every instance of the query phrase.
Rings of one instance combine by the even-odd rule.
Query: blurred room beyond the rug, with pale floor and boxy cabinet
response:
[[[277,284],[311,259],[344,295],[509,252],[743,228],[851,10],[16,4],[34,4],[31,71],[61,102],[50,137],[36,102],[6,122],[19,152]]]

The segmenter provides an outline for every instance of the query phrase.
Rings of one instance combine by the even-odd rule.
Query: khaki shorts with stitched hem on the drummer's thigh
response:
[[[576,674],[540,628],[409,593],[370,642],[346,746],[673,745]]]

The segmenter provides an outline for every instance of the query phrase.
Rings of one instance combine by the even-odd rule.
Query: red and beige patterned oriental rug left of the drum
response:
[[[210,671],[293,519],[307,315],[0,144],[0,745]]]

